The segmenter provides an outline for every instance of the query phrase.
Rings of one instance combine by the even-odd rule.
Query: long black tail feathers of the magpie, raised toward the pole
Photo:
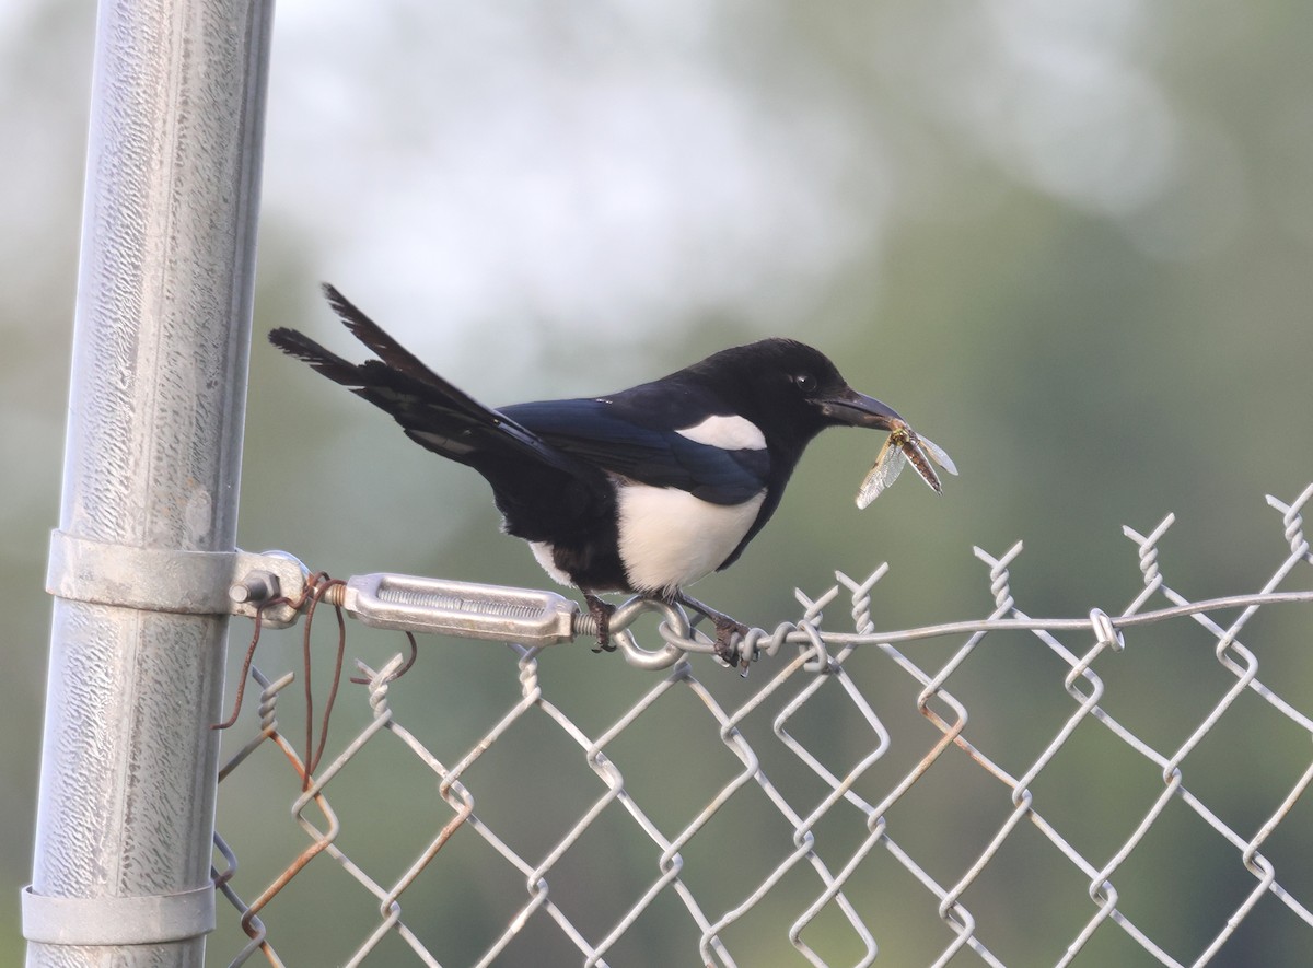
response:
[[[578,475],[572,458],[429,370],[336,289],[326,283],[324,295],[377,359],[352,363],[295,329],[274,329],[269,342],[390,413],[416,443],[474,467],[495,491],[503,484],[502,468],[523,468],[525,459]]]

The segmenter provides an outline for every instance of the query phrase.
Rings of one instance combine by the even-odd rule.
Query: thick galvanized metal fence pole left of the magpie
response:
[[[29,965],[198,965],[269,0],[98,13]]]

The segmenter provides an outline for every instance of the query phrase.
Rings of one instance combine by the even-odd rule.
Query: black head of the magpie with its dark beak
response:
[[[839,375],[821,350],[796,340],[762,340],[733,346],[688,367],[699,382],[790,450],[829,426],[892,430],[902,417]]]

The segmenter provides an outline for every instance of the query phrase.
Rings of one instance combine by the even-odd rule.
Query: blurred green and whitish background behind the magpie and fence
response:
[[[50,611],[42,584],[58,514],[92,42],[87,4],[14,0],[0,13],[0,576],[13,594],[0,678],[0,884],[9,891],[0,964],[18,964],[22,951],[17,888],[30,870]],[[991,599],[970,548],[1001,555],[1018,539],[1019,607],[1117,611],[1140,588],[1121,525],[1146,533],[1169,512],[1178,515],[1163,546],[1169,582],[1194,598],[1257,590],[1287,550],[1263,496],[1292,500],[1313,480],[1310,45],[1313,8],[1291,0],[288,0],[273,43],[256,331],[295,325],[345,349],[318,298],[316,283],[330,279],[494,404],[616,390],[767,334],[821,346],[855,387],[943,445],[962,476],[940,498],[899,481],[859,513],[852,496],[880,441],[855,432],[818,441],[771,527],[731,572],[696,589],[752,624],[796,618],[794,586],[818,594],[834,569],[867,575],[885,560],[878,627],[979,618]],[[334,575],[544,584],[523,546],[498,534],[477,476],[411,446],[259,336],[247,416],[243,547],[285,548]],[[1292,582],[1306,586],[1308,576]],[[827,624],[846,627],[843,609]],[[1308,610],[1291,606],[1263,616],[1258,641],[1246,639],[1260,678],[1305,712],[1308,627]],[[235,644],[247,634],[235,626]],[[1138,652],[1128,649],[1125,664],[1099,668],[1113,715],[1170,752],[1233,679],[1194,626],[1132,641]],[[395,647],[356,630],[349,643],[351,655],[376,662]],[[295,648],[273,639],[261,665],[288,668]],[[927,668],[945,649],[907,647]],[[968,736],[1020,774],[1073,710],[1064,670],[1033,639],[991,637],[982,649],[987,657],[964,669],[976,678],[962,691],[981,711]],[[407,691],[397,691],[403,721],[435,749],[452,744],[442,756],[463,749],[461,737],[473,742],[513,703],[512,661],[500,647],[427,644]],[[655,682],[582,645],[541,662],[549,695],[575,703],[595,729]],[[895,744],[890,754],[911,757],[907,769],[931,737],[913,708],[918,689],[881,668],[872,657],[868,696],[907,731],[910,749]],[[746,683],[705,661],[695,672],[735,707],[771,669]],[[1229,821],[1250,833],[1306,769],[1309,738],[1251,699],[1183,767],[1187,786],[1199,778],[1213,808],[1226,804]],[[339,741],[360,715],[341,712]],[[835,719],[818,721],[815,736],[851,742],[856,752],[840,756],[851,763],[865,733],[856,724],[844,740],[847,716]],[[680,716],[667,720],[668,733],[633,741],[626,763],[654,803],[662,786],[679,784],[668,762],[664,784],[645,779],[639,756],[695,750],[681,767],[691,773],[706,745],[716,750],[708,763],[725,757],[705,723],[701,738],[679,738]],[[524,766],[540,752],[525,756],[507,754],[516,763],[507,769],[553,797],[570,790],[545,766]],[[1043,774],[1036,794],[1048,792],[1049,809],[1087,832],[1079,846],[1106,859],[1161,780],[1102,735],[1082,756]],[[720,765],[725,782],[731,769]],[[582,759],[574,767],[591,778]],[[402,774],[381,771],[382,786],[348,797],[357,830],[372,808],[386,811],[373,849],[394,850],[397,864],[436,830],[431,779]],[[952,883],[1007,816],[1007,800],[978,770],[932,776],[937,795],[916,801],[918,822],[899,834],[941,858],[935,874]],[[244,816],[242,796],[221,797],[228,830]],[[504,796],[524,796],[523,787]],[[953,808],[973,799],[994,812],[964,821]],[[419,816],[407,816],[411,805]],[[578,805],[553,801],[544,816],[578,816]],[[284,807],[269,809],[256,816]],[[674,833],[687,812],[671,809]],[[1301,809],[1281,828],[1283,883],[1313,849]],[[1095,816],[1117,822],[1106,830]],[[414,842],[393,843],[386,834],[398,828]],[[294,842],[290,830],[269,843]],[[1033,833],[1010,841],[966,898],[1008,963],[1052,963],[1092,914],[1081,877],[1052,850],[1045,876],[1064,877],[1069,896],[1046,892],[1028,853],[1044,854]],[[1133,855],[1119,887],[1138,885],[1130,917],[1188,961],[1253,884],[1197,820],[1165,822],[1158,839],[1162,853]],[[742,832],[727,842],[743,857],[756,849]],[[289,849],[256,837],[243,850],[281,858]],[[712,862],[710,845],[702,850]],[[473,854],[471,870],[482,870]],[[653,876],[649,855],[630,860]],[[1302,876],[1296,896],[1309,904]],[[872,864],[871,880],[881,877],[889,883],[864,887],[871,897],[920,891]],[[815,884],[802,881],[797,896],[810,900]],[[436,884],[433,897],[465,887]],[[735,888],[726,889],[730,904]],[[897,918],[873,904],[892,963],[930,961],[948,943],[927,898]],[[343,904],[368,922],[365,898]],[[760,934],[798,910],[781,902]],[[490,904],[482,927],[495,933],[507,914]],[[608,901],[599,923],[611,914]],[[638,947],[613,964],[675,963],[662,960],[666,930],[643,934],[645,923]],[[676,923],[687,934],[687,918]],[[484,944],[486,931],[470,929]],[[689,952],[687,937],[672,937]],[[731,951],[754,937],[739,929]],[[341,958],[298,943],[310,947],[291,963]],[[1100,929],[1096,943],[1104,947],[1085,963],[1146,963],[1116,929]],[[232,944],[217,938],[213,958]],[[1217,963],[1295,964],[1306,946],[1308,927],[1266,898]],[[389,951],[379,964],[407,963]],[[452,963],[460,951],[446,950]],[[855,956],[842,946],[831,954]],[[800,963],[776,956],[763,948],[741,964]],[[557,963],[527,958],[507,963]]]

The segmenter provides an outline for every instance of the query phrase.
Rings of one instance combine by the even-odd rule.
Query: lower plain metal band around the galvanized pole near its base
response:
[[[22,889],[22,937],[38,944],[167,944],[214,930],[214,884],[147,897],[47,897]]]

